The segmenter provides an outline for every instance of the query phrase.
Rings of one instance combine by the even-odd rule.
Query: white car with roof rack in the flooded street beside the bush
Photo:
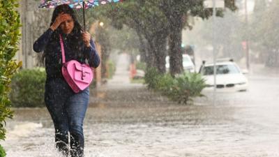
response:
[[[203,63],[199,73],[206,80],[204,91],[214,90],[213,63]],[[229,61],[219,60],[216,62],[216,91],[247,91],[248,80],[232,59]]]

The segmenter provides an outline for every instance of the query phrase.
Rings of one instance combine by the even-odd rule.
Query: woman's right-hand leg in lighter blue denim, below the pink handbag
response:
[[[67,103],[67,115],[70,131],[70,154],[84,156],[83,121],[89,103],[89,88],[71,96]]]

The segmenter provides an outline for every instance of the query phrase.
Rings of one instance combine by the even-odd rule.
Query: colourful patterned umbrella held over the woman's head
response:
[[[106,3],[116,3],[123,0],[41,0],[39,8],[55,8],[61,4],[68,4],[70,8],[83,9],[83,24],[85,29],[85,9]]]

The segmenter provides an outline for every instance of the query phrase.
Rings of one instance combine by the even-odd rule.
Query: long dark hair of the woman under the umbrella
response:
[[[80,23],[77,21],[77,17],[75,15],[75,11],[70,8],[70,6],[68,6],[68,4],[62,4],[60,6],[56,6],[56,8],[54,9],[53,13],[52,13],[52,21],[50,22],[50,26],[52,26],[52,24],[54,23],[54,21],[56,20],[56,17],[59,16],[60,13],[66,13],[68,15],[70,15],[73,18],[73,22],[74,22],[74,28],[73,31],[70,33],[70,35],[68,35],[68,39],[70,41],[70,49],[74,50],[76,55],[78,57],[80,57],[81,50],[82,50],[82,26],[80,25]],[[52,33],[52,37],[50,39],[50,43],[52,42],[59,42],[59,34],[63,33],[63,31],[60,29],[60,27],[58,27],[53,33]],[[43,61],[45,60],[45,52],[43,53]]]

